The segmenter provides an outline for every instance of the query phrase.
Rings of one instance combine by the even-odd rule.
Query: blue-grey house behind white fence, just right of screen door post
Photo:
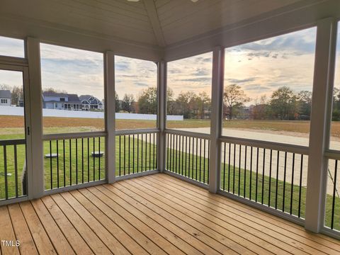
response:
[[[82,105],[77,94],[57,93],[54,91],[45,91],[42,93],[43,108],[81,111]]]

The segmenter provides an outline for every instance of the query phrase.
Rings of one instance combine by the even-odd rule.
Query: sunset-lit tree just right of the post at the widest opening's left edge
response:
[[[237,84],[231,84],[225,87],[225,92],[223,93],[223,103],[227,108],[227,114],[229,115],[229,120],[232,120],[236,111],[244,106],[244,103],[249,102],[250,98],[246,96],[241,86]]]

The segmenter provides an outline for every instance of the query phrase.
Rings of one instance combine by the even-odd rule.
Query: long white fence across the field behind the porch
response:
[[[0,115],[23,116],[23,107],[0,106]],[[94,111],[65,111],[55,109],[42,109],[45,117],[64,117],[64,118],[104,118],[103,112]],[[157,120],[155,114],[140,113],[115,113],[117,120]],[[167,120],[183,120],[183,115],[168,115]]]

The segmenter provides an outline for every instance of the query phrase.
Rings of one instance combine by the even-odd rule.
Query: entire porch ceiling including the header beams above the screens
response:
[[[157,61],[327,17],[340,0],[0,0],[0,35]]]

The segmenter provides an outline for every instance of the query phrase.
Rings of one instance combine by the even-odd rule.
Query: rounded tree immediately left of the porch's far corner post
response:
[[[140,113],[157,114],[157,88],[149,87],[138,98]]]

